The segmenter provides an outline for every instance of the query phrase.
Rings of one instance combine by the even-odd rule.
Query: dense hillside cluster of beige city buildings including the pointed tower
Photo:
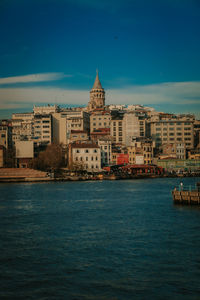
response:
[[[70,168],[95,172],[114,164],[200,159],[200,121],[142,105],[106,105],[98,72],[87,107],[34,106],[0,123],[0,167],[14,149],[26,166],[49,144],[61,144]]]

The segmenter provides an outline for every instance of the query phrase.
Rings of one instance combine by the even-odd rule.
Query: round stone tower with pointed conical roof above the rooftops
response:
[[[90,91],[90,101],[88,102],[88,111],[105,106],[105,91],[102,88],[97,72],[93,88]]]

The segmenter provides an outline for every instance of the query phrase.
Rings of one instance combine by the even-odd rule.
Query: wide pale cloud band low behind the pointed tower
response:
[[[0,108],[30,107],[39,103],[87,105],[89,89],[70,90],[54,87],[0,88]],[[165,111],[173,106],[181,112],[200,111],[200,82],[167,82],[134,85],[106,90],[106,104],[162,105]],[[179,110],[178,108],[178,110]],[[175,111],[174,111],[175,112]],[[178,112],[178,111],[176,111]]]

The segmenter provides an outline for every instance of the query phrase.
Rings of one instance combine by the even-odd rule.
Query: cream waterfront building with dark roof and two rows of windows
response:
[[[70,168],[98,172],[101,170],[101,150],[93,143],[69,144],[68,163]]]

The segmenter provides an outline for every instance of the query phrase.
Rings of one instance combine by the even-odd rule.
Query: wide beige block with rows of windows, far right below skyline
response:
[[[194,116],[160,114],[151,118],[150,136],[159,147],[162,144],[185,143],[186,149],[194,147]]]

